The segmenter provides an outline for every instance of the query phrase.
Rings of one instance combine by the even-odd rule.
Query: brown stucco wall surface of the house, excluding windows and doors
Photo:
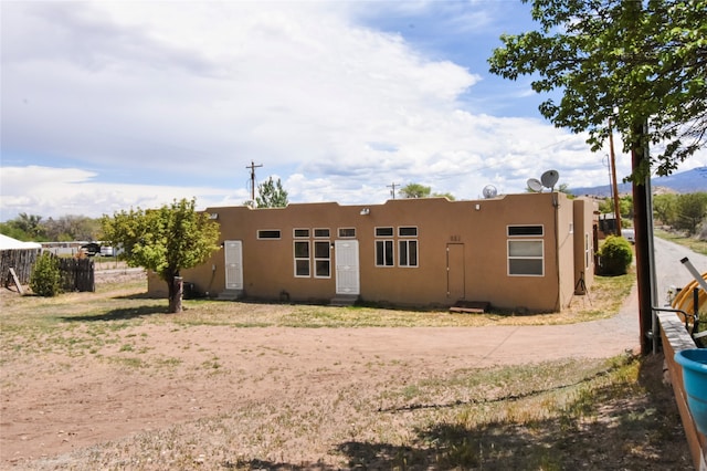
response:
[[[361,214],[365,208],[368,214]],[[566,306],[574,291],[576,241],[570,232],[570,226],[577,224],[574,209],[563,193],[524,193],[474,201],[430,198],[359,206],[223,207],[207,212],[218,214],[222,240],[242,241],[244,292],[249,297],[279,300],[286,293],[292,301],[330,300],[336,293],[335,249],[330,278],[295,278],[293,231],[329,229],[328,240],[334,243],[339,228],[355,228],[363,301],[416,306],[487,301],[496,308],[549,312]],[[591,213],[589,218],[591,226]],[[508,275],[509,224],[544,227],[541,238],[531,238],[544,240],[542,276]],[[416,227],[419,266],[376,266],[377,227],[393,227],[395,231],[399,227]],[[257,230],[262,229],[279,230],[282,238],[258,240]],[[392,239],[397,259],[399,238]],[[183,271],[182,276],[201,293],[215,295],[223,291],[223,250],[214,252],[204,265]],[[163,294],[165,290],[163,282],[150,282],[152,294]]]

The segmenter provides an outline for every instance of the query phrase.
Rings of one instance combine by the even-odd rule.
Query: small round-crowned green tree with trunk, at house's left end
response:
[[[102,218],[105,240],[120,247],[129,266],[143,266],[162,279],[169,292],[169,312],[181,312],[180,270],[203,263],[218,250],[219,226],[196,201],[175,200],[160,209],[116,212]]]

